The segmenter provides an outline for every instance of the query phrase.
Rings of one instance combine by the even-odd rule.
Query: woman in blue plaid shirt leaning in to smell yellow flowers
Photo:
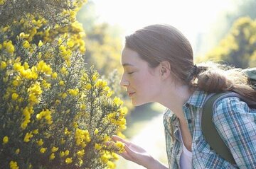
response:
[[[126,37],[122,50],[124,74],[132,104],[161,103],[164,112],[169,168],[256,168],[256,110],[239,98],[223,98],[215,104],[213,122],[236,164],[221,158],[201,132],[201,109],[209,93],[235,91],[256,98],[239,69],[220,64],[193,64],[193,51],[183,34],[171,25],[149,25]],[[174,129],[174,131],[172,131]],[[167,168],[143,148],[113,136],[125,144],[120,153],[145,168]]]

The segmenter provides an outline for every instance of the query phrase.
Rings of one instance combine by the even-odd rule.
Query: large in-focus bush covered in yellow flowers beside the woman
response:
[[[0,0],[0,10],[14,3],[23,0]],[[75,14],[83,3],[65,1],[51,17],[39,6],[0,26],[1,168],[114,168],[123,151],[105,142],[122,135],[127,109],[82,59]]]

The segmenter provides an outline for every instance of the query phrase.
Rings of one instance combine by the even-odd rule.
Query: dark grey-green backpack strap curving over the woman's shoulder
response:
[[[237,93],[218,93],[211,95],[206,103],[203,105],[202,111],[202,120],[201,120],[201,128],[203,132],[203,136],[205,137],[210,147],[218,153],[225,161],[229,163],[235,164],[235,160],[230,153],[230,149],[226,146],[223,139],[221,139],[220,135],[218,134],[217,129],[215,128],[215,124],[213,124],[213,107],[218,100],[227,97],[239,97]]]

